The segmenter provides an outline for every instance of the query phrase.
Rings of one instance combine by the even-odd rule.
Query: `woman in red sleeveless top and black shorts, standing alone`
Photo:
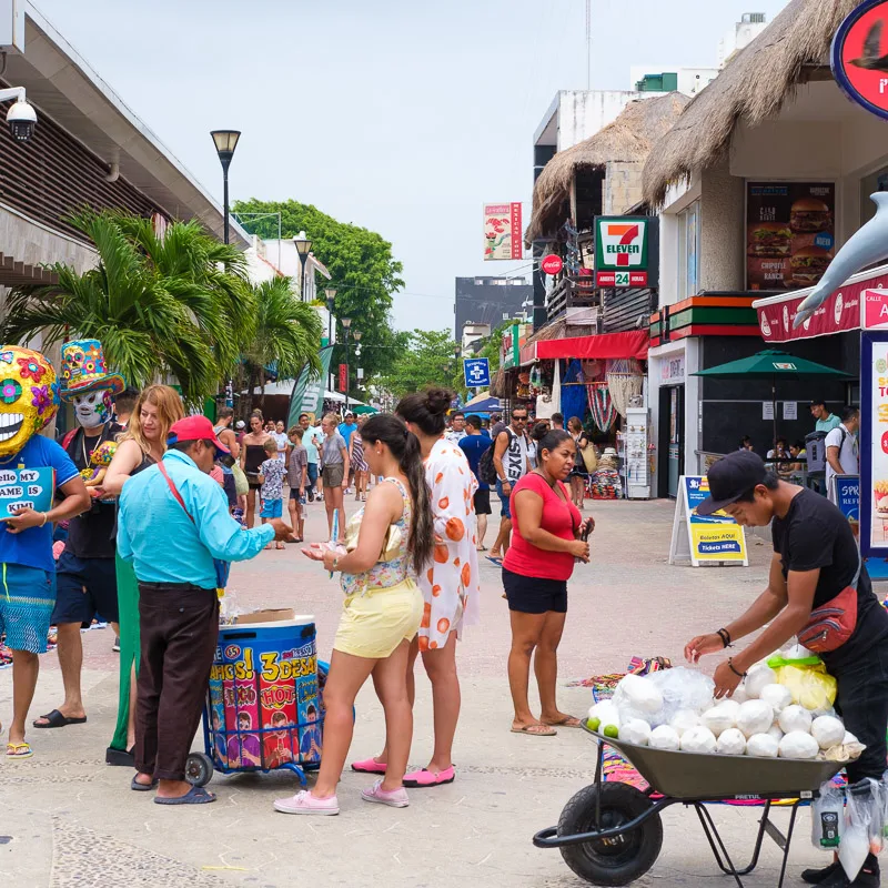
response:
[[[508,684],[515,706],[514,734],[551,737],[555,725],[579,727],[579,720],[562,713],[555,703],[557,650],[567,615],[567,581],[576,558],[589,559],[585,541],[593,518],[583,519],[562,483],[574,467],[576,445],[556,428],[535,428],[537,467],[512,491],[512,545],[503,562],[503,586],[512,620]],[[542,704],[534,718],[527,703],[531,656]]]

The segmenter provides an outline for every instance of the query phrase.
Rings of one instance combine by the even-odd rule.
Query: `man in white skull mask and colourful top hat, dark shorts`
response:
[[[79,470],[90,465],[93,451],[114,441],[122,427],[111,422],[113,395],[124,390],[123,379],[105,369],[98,340],[78,340],[62,346],[61,398],[73,405],[79,428],[62,441]],[[95,614],[118,626],[118,584],[114,567],[113,503],[101,502],[104,491],[90,487],[91,508],[73,518],[68,541],[56,566],[56,608],[52,622],[59,628],[59,664],[64,682],[64,703],[38,718],[36,728],[61,728],[87,720],[80,690],[83,664],[81,627]]]

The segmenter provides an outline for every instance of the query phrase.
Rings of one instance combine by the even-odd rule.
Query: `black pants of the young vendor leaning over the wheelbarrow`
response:
[[[838,683],[836,712],[845,727],[867,747],[846,768],[848,783],[856,784],[865,777],[880,780],[888,769],[888,638],[876,642],[856,663],[830,668],[830,673]]]

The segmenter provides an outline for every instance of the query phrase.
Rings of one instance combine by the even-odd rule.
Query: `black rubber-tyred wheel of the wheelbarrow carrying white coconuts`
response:
[[[650,799],[628,784],[602,784],[601,828],[614,829],[634,820],[650,807]],[[562,811],[558,835],[595,829],[596,786],[581,789]],[[630,833],[601,841],[565,845],[561,851],[571,869],[593,885],[628,885],[644,876],[663,846],[663,823],[656,814]]]

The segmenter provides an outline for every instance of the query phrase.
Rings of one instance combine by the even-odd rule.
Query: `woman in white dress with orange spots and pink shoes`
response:
[[[395,412],[420,442],[425,478],[432,491],[435,516],[434,558],[420,573],[424,598],[420,634],[411,645],[407,690],[415,697],[413,665],[422,654],[432,683],[435,710],[435,748],[428,766],[405,775],[404,786],[442,786],[453,783],[453,738],[460,719],[460,679],[456,676],[456,640],[464,625],[474,623],[478,607],[478,555],[475,511],[477,482],[456,444],[444,437],[444,417],[453,394],[430,389],[403,397]],[[396,741],[391,729],[382,755],[355,761],[353,770],[385,774],[389,746]]]

